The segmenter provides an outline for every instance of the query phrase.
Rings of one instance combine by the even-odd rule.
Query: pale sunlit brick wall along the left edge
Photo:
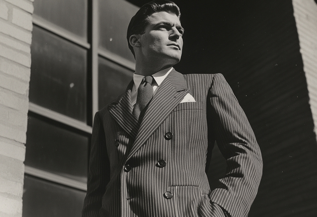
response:
[[[22,216],[34,0],[0,0],[0,216]]]

